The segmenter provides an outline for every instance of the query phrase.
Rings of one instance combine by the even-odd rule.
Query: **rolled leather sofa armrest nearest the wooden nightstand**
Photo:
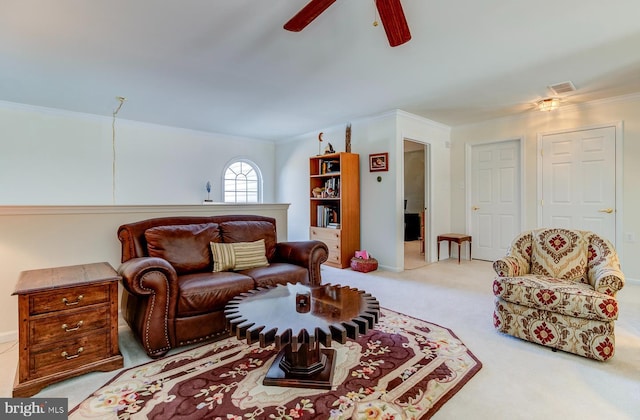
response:
[[[123,287],[146,304],[142,323],[131,325],[139,329],[142,345],[151,357],[165,354],[172,343],[173,329],[168,323],[175,319],[178,299],[178,276],[175,269],[162,258],[132,258],[120,265],[118,274],[122,276]],[[144,308],[144,309],[143,309]],[[130,322],[131,320],[127,320]]]

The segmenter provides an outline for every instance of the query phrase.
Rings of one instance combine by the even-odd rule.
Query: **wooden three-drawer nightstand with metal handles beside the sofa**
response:
[[[121,368],[118,281],[106,262],[23,271],[16,285],[19,360],[14,397],[63,379]]]

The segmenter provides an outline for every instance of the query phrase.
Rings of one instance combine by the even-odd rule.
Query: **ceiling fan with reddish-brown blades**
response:
[[[311,0],[294,17],[284,24],[284,29],[300,32],[336,0]],[[411,39],[409,25],[404,17],[400,0],[375,0],[378,14],[384,31],[387,33],[389,45],[397,47]]]

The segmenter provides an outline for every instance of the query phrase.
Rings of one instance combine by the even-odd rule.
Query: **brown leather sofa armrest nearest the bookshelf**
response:
[[[320,265],[329,258],[329,248],[321,241],[279,242],[274,260],[305,267],[309,270],[309,284],[322,282]]]

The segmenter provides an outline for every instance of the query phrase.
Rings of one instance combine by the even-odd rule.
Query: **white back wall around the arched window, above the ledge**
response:
[[[126,115],[126,104],[120,111]],[[255,162],[274,200],[271,142],[0,102],[0,205],[196,204],[222,201],[233,158]]]

